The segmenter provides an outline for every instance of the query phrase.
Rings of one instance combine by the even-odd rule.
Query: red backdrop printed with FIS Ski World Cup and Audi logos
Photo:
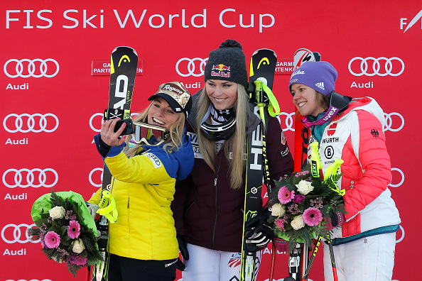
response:
[[[65,265],[45,258],[25,231],[33,224],[32,203],[51,186],[87,199],[101,183],[102,160],[92,136],[107,106],[109,77],[97,70],[98,61],[109,61],[118,45],[136,50],[143,62],[134,87],[136,112],[163,82],[181,81],[195,93],[204,84],[208,53],[226,38],[242,43],[247,60],[259,48],[278,55],[274,93],[292,150],[294,108],[290,75],[283,73],[298,48],[318,51],[335,65],[337,92],[377,99],[386,113],[391,192],[402,220],[393,279],[414,277],[421,250],[412,211],[418,165],[411,160],[420,155],[421,138],[414,111],[422,101],[420,1],[94,2],[1,1],[0,281],[74,280]],[[406,194],[406,188],[412,192]],[[270,249],[264,251],[259,281],[269,278]],[[311,280],[323,280],[321,257],[318,253]],[[85,275],[80,270],[76,279]],[[287,257],[277,255],[274,278],[287,275]]]

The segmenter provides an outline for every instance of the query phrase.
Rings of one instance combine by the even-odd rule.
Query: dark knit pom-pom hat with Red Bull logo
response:
[[[204,70],[205,81],[208,79],[227,80],[248,85],[248,72],[242,45],[236,40],[227,39],[220,47],[210,52]]]

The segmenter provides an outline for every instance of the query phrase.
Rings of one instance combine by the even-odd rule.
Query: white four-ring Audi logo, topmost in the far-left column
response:
[[[14,67],[13,67],[14,66]],[[10,59],[3,67],[4,74],[10,78],[22,77],[55,77],[58,74],[60,67],[58,62],[54,59]]]

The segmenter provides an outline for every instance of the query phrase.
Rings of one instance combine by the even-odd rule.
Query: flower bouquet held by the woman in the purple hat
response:
[[[310,244],[318,236],[328,238],[330,212],[346,212],[336,186],[340,177],[333,175],[326,181],[313,177],[308,165],[275,182],[276,188],[269,194],[269,222],[274,224],[275,236],[288,241],[289,253],[298,242]]]

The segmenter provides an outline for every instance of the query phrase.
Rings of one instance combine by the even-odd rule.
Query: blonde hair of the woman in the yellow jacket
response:
[[[153,104],[153,101],[151,101],[151,104],[149,104],[149,106],[143,112],[141,112],[139,116],[136,116],[134,121],[148,123],[148,111],[151,108],[152,104]],[[166,152],[168,152],[168,150],[177,150],[178,148],[180,148],[180,145],[182,145],[182,136],[183,136],[184,127],[185,127],[185,114],[180,113],[179,118],[170,126],[168,126],[168,131],[170,131],[170,140],[168,140],[163,145],[163,149]],[[134,148],[129,148],[130,140],[131,138],[126,139],[126,148],[124,152],[124,154],[126,154],[128,158],[135,156],[142,145],[142,144],[135,145]]]

